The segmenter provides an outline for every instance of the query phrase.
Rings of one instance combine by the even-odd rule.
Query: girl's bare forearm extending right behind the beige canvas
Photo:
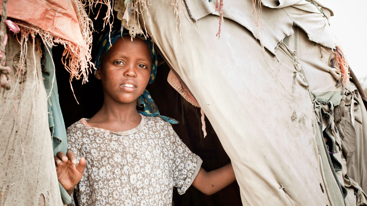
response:
[[[222,190],[236,180],[233,172],[232,163],[229,163],[219,169],[206,172],[200,168],[192,185],[206,195],[212,195]]]

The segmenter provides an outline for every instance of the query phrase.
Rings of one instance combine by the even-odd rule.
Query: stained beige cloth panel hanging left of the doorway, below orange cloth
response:
[[[52,157],[40,44],[26,42],[25,64],[19,69],[21,45],[8,36],[11,89],[0,89],[0,204],[63,205]]]

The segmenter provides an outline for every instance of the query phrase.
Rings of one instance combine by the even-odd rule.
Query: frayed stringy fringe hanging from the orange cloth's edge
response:
[[[29,39],[29,35],[33,39],[33,44],[34,44],[34,37],[38,35],[41,41],[49,48],[53,47],[55,44],[62,44],[64,46],[61,61],[62,64],[65,66],[65,69],[70,73],[69,81],[72,91],[73,87],[71,82],[74,78],[76,80],[81,79],[82,84],[88,82],[89,70],[91,70],[91,68],[94,69],[94,64],[91,62],[93,22],[88,17],[85,7],[91,6],[91,2],[92,0],[86,3],[82,3],[79,0],[72,1],[72,5],[76,12],[77,19],[79,22],[80,33],[82,36],[82,40],[80,42],[72,42],[67,39],[58,37],[52,33],[40,29],[37,26],[31,25],[28,22],[14,20],[14,22],[20,27],[21,37],[19,40],[17,36],[17,40],[18,43],[21,44],[22,48],[18,64],[18,70],[16,71],[15,78],[18,78],[19,74],[22,73],[21,69],[19,68],[23,68],[23,65],[25,63],[25,56],[27,49],[26,42]],[[101,3],[101,0],[95,2]],[[110,15],[106,16],[108,16],[109,18]],[[52,82],[53,81],[54,79],[52,80]]]

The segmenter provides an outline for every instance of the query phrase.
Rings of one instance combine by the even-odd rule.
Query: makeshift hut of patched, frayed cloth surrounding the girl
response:
[[[155,41],[161,74],[183,98],[163,80],[150,91],[161,94],[161,113],[181,121],[175,129],[185,143],[213,164],[204,166],[232,162],[238,186],[222,193],[233,195],[230,205],[239,197],[242,205],[366,205],[367,98],[331,32],[333,11],[324,1],[116,0],[86,7],[77,0],[19,0],[7,3],[7,14],[5,4],[1,85],[10,89],[1,89],[0,204],[69,201],[58,187],[52,150],[65,150],[63,119],[69,126],[101,103],[88,101],[98,97],[98,82],[87,75],[91,15],[102,18],[105,9],[105,29],[115,12],[115,26]],[[8,32],[6,47],[4,16],[21,27],[18,35]],[[53,62],[55,43],[65,51],[54,48]],[[72,84],[74,77],[90,80],[89,88]],[[82,106],[70,102],[73,92]],[[220,143],[209,148],[215,136]],[[174,204],[228,203],[188,193]]]

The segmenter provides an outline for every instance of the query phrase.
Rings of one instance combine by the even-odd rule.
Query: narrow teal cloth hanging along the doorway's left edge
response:
[[[43,54],[45,54],[41,64],[43,84],[46,89],[47,95],[50,95],[51,93],[50,97],[47,99],[47,106],[48,106],[48,124],[50,126],[54,155],[56,155],[56,153],[59,151],[62,151],[64,154],[66,154],[68,150],[68,143],[66,137],[65,123],[62,117],[61,108],[59,104],[59,94],[57,90],[56,77],[54,79],[52,87],[52,78],[54,78],[55,75],[54,73],[55,68],[52,63],[52,51],[51,48],[46,48],[45,46],[42,52]],[[59,188],[63,203],[65,205],[70,203],[71,197],[60,183]]]

